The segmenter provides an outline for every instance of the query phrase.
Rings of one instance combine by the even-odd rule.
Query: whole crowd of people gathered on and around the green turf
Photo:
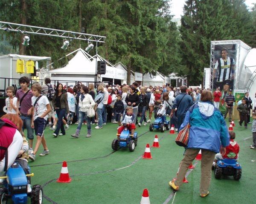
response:
[[[9,140],[11,143],[6,145],[9,145],[10,149],[18,148],[19,151],[12,151],[12,153],[17,153],[17,156],[27,153],[23,155],[23,159],[26,160],[23,164],[24,168],[27,166],[28,158],[35,161],[40,144],[43,145],[44,150],[39,156],[49,154],[44,137],[46,126],[54,131],[52,135],[55,138],[65,135],[69,125],[73,123],[77,124],[75,133],[71,134],[74,138],[79,138],[80,135],[91,137],[93,125],[95,125],[95,131],[98,131],[107,122],[118,125],[118,134],[124,128],[122,124],[128,125],[132,135],[136,124],[138,127],[146,126],[157,116],[164,117],[164,121],[166,116],[169,116],[171,125],[175,126],[176,131],[183,129],[188,123],[192,130],[189,133],[188,147],[184,159],[180,163],[177,178],[170,181],[169,185],[174,190],[179,189],[187,167],[195,159],[198,151],[202,149],[202,164],[204,165],[201,165],[201,196],[205,197],[209,194],[211,162],[220,158],[220,155],[215,156],[215,153],[220,152],[224,156],[226,147],[231,144],[230,135],[232,134],[227,131],[225,118],[229,112],[229,120],[232,119],[233,103],[235,102],[232,90],[229,90],[225,96],[225,104],[221,104],[226,107],[223,117],[218,110],[221,102],[219,88],[213,94],[209,90],[192,89],[184,85],[180,88],[166,85],[153,87],[151,85],[140,86],[137,82],[133,82],[132,85],[115,86],[100,83],[97,89],[93,83],[90,83],[88,87],[78,84],[71,88],[64,87],[61,83],[55,87],[51,85],[51,80],[46,78],[45,85],[41,86],[38,82],[34,82],[29,89],[30,80],[27,77],[21,77],[19,84],[20,89],[16,91],[16,94],[13,87],[6,89],[8,113],[3,117],[5,119],[0,120],[0,128],[5,127],[5,124],[9,124],[6,125],[9,129],[15,128],[12,130],[12,140]],[[239,102],[237,107],[240,114],[239,125],[244,122],[247,128],[247,123],[250,123],[250,109],[253,109],[253,144],[250,148],[256,149],[256,95],[254,108],[248,95],[245,93],[244,99]],[[91,108],[95,110],[93,116],[89,116]],[[154,118],[152,119],[153,113]],[[10,115],[16,116],[16,118],[10,117]],[[83,124],[87,125],[87,134],[81,130]],[[20,134],[23,135],[24,128],[27,129],[28,142],[25,137],[23,137],[23,142],[21,136],[21,139],[17,139]],[[33,148],[34,132],[37,140]],[[4,134],[2,130],[1,133]],[[231,138],[234,139],[235,136]],[[3,159],[4,154],[2,150],[0,151],[2,160],[0,166],[8,168],[16,156],[12,155],[12,160],[8,161],[7,166]]]

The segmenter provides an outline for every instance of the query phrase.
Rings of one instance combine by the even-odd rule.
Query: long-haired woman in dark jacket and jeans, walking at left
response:
[[[61,83],[58,83],[56,86],[55,95],[52,99],[52,106],[56,111],[56,114],[58,116],[58,122],[57,127],[52,134],[54,137],[57,137],[58,135],[65,135],[65,129],[62,122],[62,118],[65,117],[65,114],[69,114],[69,108],[68,108],[68,102],[67,102],[67,93],[63,90],[63,85]],[[61,130],[61,133],[59,134],[59,131]]]

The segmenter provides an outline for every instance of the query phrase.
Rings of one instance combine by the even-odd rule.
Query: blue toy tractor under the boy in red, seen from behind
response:
[[[222,175],[233,176],[235,180],[239,180],[242,176],[242,167],[236,159],[219,160],[215,164],[214,176],[220,179]]]

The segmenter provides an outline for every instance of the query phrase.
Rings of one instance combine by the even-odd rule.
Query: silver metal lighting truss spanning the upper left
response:
[[[105,42],[106,37],[100,35],[92,35],[86,33],[78,33],[73,31],[63,31],[52,28],[43,28],[38,26],[28,26],[17,23],[8,23],[0,21],[0,29],[4,31],[14,31],[20,32],[22,34],[36,34],[36,35],[45,35],[51,37],[60,37],[67,40],[85,40],[88,42]]]

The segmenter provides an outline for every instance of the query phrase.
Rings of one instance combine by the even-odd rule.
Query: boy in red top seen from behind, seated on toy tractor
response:
[[[233,131],[228,131],[230,134],[230,144],[226,147],[226,153],[221,155],[221,153],[217,153],[215,155],[215,161],[213,162],[213,166],[217,163],[218,160],[221,159],[236,159],[238,160],[238,153],[239,153],[239,145],[234,140],[236,138],[236,133]]]

